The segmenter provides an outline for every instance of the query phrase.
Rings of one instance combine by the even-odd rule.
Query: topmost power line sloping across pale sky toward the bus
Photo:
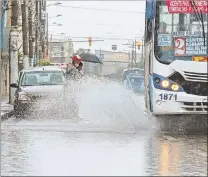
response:
[[[107,12],[137,13],[137,14],[144,14],[145,13],[145,12],[130,11],[130,10],[97,9],[97,8],[66,6],[66,5],[57,5],[57,6],[58,7],[69,7],[69,8],[73,8],[73,9],[96,10],[96,11],[107,11]]]

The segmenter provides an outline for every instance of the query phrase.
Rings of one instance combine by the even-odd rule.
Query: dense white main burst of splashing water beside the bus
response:
[[[151,121],[144,116],[143,96],[127,91],[119,83],[85,77],[73,85],[69,95],[76,95],[79,116],[86,123],[100,127],[151,127]]]

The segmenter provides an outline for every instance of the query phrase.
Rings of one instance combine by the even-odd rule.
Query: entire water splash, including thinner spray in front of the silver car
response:
[[[68,123],[75,122],[76,126],[82,124],[82,130],[84,125],[85,129],[94,126],[102,130],[123,131],[151,129],[153,125],[152,120],[144,115],[143,96],[137,96],[119,83],[105,78],[83,77],[78,81],[69,81],[65,97],[52,96],[47,101],[51,103],[50,111],[33,115],[36,127],[40,122],[47,126],[50,122],[51,126],[62,124],[63,129],[67,125],[71,127]],[[44,106],[44,103],[40,106]],[[58,112],[58,116],[55,112]]]

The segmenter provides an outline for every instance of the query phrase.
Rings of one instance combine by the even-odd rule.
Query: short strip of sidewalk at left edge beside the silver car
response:
[[[1,120],[8,119],[13,114],[13,105],[9,104],[9,98],[3,97],[1,100]]]

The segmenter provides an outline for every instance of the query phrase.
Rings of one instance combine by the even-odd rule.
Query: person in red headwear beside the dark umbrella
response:
[[[72,57],[72,64],[70,65],[71,67],[67,71],[67,75],[69,78],[77,79],[81,78],[83,76],[83,63],[82,63],[83,58],[80,57],[79,55],[75,55]]]

